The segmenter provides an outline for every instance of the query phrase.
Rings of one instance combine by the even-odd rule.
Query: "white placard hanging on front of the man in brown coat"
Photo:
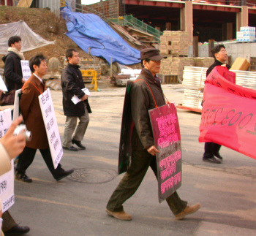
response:
[[[61,157],[63,156],[63,149],[61,145],[61,137],[59,135],[58,123],[54,112],[53,99],[50,95],[50,89],[48,88],[38,98],[50,146],[50,154],[53,159],[54,168],[56,169],[59,161],[61,161]]]

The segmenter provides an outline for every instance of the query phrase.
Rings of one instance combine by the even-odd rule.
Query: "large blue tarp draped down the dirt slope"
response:
[[[72,12],[67,7],[61,13],[67,23],[67,36],[86,53],[90,47],[91,55],[105,58],[109,64],[110,58],[123,65],[140,62],[140,51],[125,42],[99,16]]]

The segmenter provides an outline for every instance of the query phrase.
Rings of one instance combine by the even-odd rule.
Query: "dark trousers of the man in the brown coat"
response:
[[[42,158],[45,160],[45,163],[53,175],[53,178],[59,178],[62,175],[64,170],[61,168],[61,164],[58,165],[56,169],[53,166],[53,160],[50,154],[50,148],[47,149],[39,149],[42,154]],[[34,156],[36,155],[37,149],[25,147],[23,152],[20,154],[18,159],[18,164],[16,167],[16,173],[24,175],[26,170],[29,168],[31,163],[34,160]]]

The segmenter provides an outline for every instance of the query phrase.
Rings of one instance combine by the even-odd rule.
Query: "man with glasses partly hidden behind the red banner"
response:
[[[224,45],[217,45],[212,50],[211,53],[214,56],[214,64],[212,64],[207,72],[206,77],[211,73],[212,69],[214,69],[215,66],[226,66],[227,69],[230,69],[230,65],[226,64],[226,61],[228,59],[227,56],[227,50],[225,49]],[[205,152],[203,153],[203,161],[211,162],[220,164],[222,163],[220,160],[222,160],[222,156],[219,154],[219,149],[221,148],[221,145],[214,143],[214,142],[206,142],[205,143]],[[218,159],[216,159],[214,156],[216,156]]]

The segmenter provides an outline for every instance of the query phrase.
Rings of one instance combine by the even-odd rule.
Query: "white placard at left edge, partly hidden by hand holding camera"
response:
[[[11,123],[11,109],[0,111],[0,138],[6,134]],[[11,167],[10,171],[0,176],[0,199],[3,212],[8,210],[15,202],[13,160],[11,161]]]

